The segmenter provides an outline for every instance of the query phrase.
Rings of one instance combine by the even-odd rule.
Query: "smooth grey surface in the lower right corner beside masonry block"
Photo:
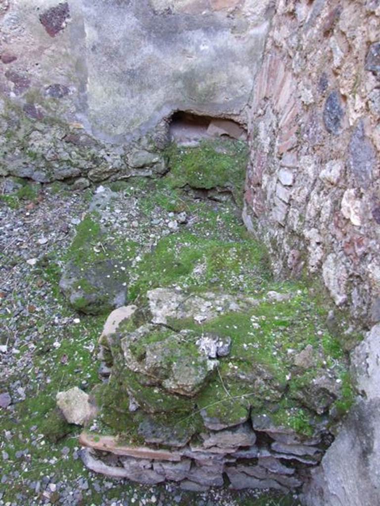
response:
[[[344,426],[304,487],[307,506],[380,502],[380,326],[375,325],[352,353],[359,399]],[[345,458],[342,458],[342,455]]]

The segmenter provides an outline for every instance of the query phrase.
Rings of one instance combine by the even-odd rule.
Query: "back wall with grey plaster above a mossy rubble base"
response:
[[[177,110],[246,123],[267,2],[2,2],[0,175],[161,173]],[[83,180],[85,178],[85,180]]]

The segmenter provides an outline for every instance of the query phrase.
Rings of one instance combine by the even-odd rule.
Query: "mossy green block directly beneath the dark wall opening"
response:
[[[204,141],[198,147],[171,145],[167,151],[172,186],[231,190],[242,204],[248,147],[233,140]]]

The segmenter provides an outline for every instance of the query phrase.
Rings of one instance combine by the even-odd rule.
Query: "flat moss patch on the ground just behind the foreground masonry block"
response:
[[[264,249],[252,240],[226,243],[189,232],[171,234],[161,239],[153,253],[145,255],[139,264],[131,299],[148,289],[174,284],[193,292],[252,292],[270,277],[263,269],[265,258]]]

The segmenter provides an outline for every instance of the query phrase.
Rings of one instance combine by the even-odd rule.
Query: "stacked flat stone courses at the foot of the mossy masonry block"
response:
[[[262,420],[261,420],[262,421]],[[175,450],[127,447],[110,437],[83,433],[84,464],[92,471],[153,485],[172,481],[184,490],[205,491],[230,483],[244,488],[288,492],[300,487],[322,455],[321,439],[304,440],[249,424],[205,435],[200,446]]]

